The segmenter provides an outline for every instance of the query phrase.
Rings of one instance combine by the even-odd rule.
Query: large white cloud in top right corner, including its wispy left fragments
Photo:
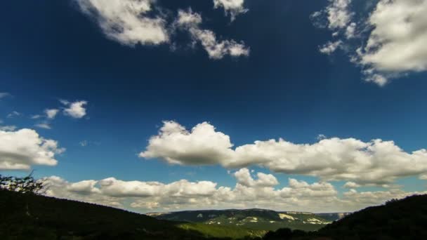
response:
[[[313,13],[312,18],[317,27],[325,27],[322,18],[327,18],[334,43],[342,42],[351,62],[362,67],[365,81],[384,86],[407,73],[425,72],[427,2],[380,0],[374,8],[366,9],[366,13],[356,14],[350,0],[329,0],[329,5]],[[336,50],[320,49],[326,54]]]

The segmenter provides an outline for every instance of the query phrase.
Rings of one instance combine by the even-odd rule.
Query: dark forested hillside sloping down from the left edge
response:
[[[206,238],[117,208],[0,190],[0,239]]]

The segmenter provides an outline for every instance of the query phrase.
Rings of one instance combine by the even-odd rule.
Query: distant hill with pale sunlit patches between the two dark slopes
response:
[[[228,209],[147,213],[147,215],[159,220],[204,223],[206,225],[223,225],[273,231],[283,227],[315,231],[331,223],[331,221],[336,220],[336,218],[339,218],[338,215],[330,215],[330,220],[327,220],[314,213],[277,212],[257,208],[245,210]]]

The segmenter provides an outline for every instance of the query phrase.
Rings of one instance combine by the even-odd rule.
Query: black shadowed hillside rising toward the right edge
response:
[[[323,227],[318,232],[280,229],[264,236],[273,239],[427,239],[427,195],[391,200],[382,206],[364,208]]]

